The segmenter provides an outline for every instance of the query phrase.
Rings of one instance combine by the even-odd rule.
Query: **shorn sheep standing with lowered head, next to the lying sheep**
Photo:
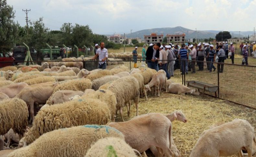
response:
[[[162,88],[162,84],[164,83],[165,85],[167,85],[166,83],[167,78],[166,78],[166,72],[164,70],[159,70],[157,73],[155,73],[152,76],[152,80],[145,85],[145,89],[146,91],[151,91],[151,87],[155,86],[155,95],[160,96],[160,91]],[[166,86],[166,92],[167,92],[167,86]]]

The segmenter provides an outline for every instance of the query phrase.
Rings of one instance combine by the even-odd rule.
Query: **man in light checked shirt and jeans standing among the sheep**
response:
[[[98,69],[106,69],[107,67],[106,60],[108,59],[108,50],[104,47],[105,47],[104,42],[101,42],[100,48],[96,51],[96,54],[93,58],[93,60],[95,60],[99,56]]]

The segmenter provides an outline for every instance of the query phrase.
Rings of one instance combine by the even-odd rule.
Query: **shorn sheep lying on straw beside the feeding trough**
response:
[[[170,84],[168,87],[168,90],[170,93],[172,94],[192,94],[192,95],[200,95],[198,89],[191,89],[183,84],[179,84],[179,83],[173,83]]]

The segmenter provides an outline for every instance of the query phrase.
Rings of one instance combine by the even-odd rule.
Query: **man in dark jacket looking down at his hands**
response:
[[[157,60],[159,59],[159,48],[161,44],[158,42],[152,46],[149,46],[146,51],[147,67],[158,71]]]

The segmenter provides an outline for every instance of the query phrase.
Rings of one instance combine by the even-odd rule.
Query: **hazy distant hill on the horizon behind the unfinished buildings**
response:
[[[208,39],[215,38],[216,34],[220,31],[218,30],[197,30],[197,38],[198,39]],[[231,36],[234,33],[234,37],[239,37],[239,31],[229,31]],[[127,38],[141,38],[144,39],[144,35],[150,35],[151,33],[163,34],[166,36],[167,34],[186,34],[186,39],[195,38],[195,30],[184,28],[184,27],[174,27],[174,28],[152,28],[152,29],[143,29],[140,31],[133,32],[132,34],[126,34]],[[240,32],[240,37],[247,37],[248,35],[252,35],[253,31],[244,31]]]

